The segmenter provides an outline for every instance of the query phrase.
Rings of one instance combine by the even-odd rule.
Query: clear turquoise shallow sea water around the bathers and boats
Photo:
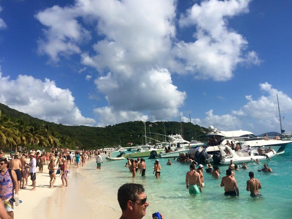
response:
[[[119,153],[113,153],[113,156]],[[137,175],[132,179],[128,168],[124,167],[127,160],[106,161],[102,171],[96,171],[95,163],[88,163],[86,171],[82,171],[90,179],[90,190],[102,189],[104,192],[87,194],[97,203],[105,204],[119,211],[116,201],[118,188],[126,182],[144,185],[147,200],[150,203],[145,218],[151,218],[155,211],[161,212],[165,218],[291,218],[292,214],[292,147],[284,154],[276,155],[272,161],[266,161],[272,173],[257,172],[263,168],[261,164],[247,163],[248,170],[235,173],[240,195],[237,197],[224,196],[224,188],[220,187],[221,178],[227,165],[221,165],[220,179],[214,179],[204,172],[205,187],[203,192],[190,196],[186,189],[185,176],[189,171],[189,163],[172,162],[167,166],[168,159],[159,159],[162,166],[161,177],[156,179],[152,167],[155,160],[146,159],[146,177]],[[204,167],[205,168],[205,167]],[[253,171],[255,178],[262,184],[262,197],[252,198],[246,191],[248,172]],[[103,185],[103,186],[101,186]],[[111,218],[109,216],[109,218]]]

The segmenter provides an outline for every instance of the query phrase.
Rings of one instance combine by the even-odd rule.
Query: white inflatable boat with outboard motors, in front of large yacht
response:
[[[233,163],[242,163],[242,162],[253,162],[252,159],[259,159],[259,160],[265,160],[267,159],[266,156],[263,155],[255,155],[253,151],[249,154],[248,152],[243,152],[243,151],[234,151],[232,150],[229,146],[225,146],[226,150],[230,152],[231,155],[227,155],[225,151],[221,147],[222,145],[217,145],[218,149],[220,150],[221,153],[221,161],[220,163],[222,165],[229,165],[230,161],[232,160]],[[269,156],[269,158],[273,157],[276,155],[276,151],[270,151],[266,155]],[[252,159],[251,159],[252,158]]]

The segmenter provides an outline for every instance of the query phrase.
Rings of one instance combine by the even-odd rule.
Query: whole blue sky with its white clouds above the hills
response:
[[[61,3],[60,3],[61,2]],[[55,123],[291,131],[291,1],[0,1],[0,102]]]

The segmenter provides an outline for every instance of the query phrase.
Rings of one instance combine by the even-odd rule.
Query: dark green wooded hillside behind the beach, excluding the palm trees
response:
[[[49,124],[56,134],[56,138],[62,143],[62,139],[67,138],[64,142],[69,142],[70,147],[79,148],[102,148],[114,147],[121,144],[126,147],[127,143],[132,142],[136,145],[145,144],[144,123],[142,121],[125,122],[115,124],[113,126],[106,127],[89,127],[89,126],[65,126],[62,124],[49,123],[44,120],[34,118],[28,114],[21,113],[15,109],[11,109],[0,103],[0,110],[2,114],[5,114],[11,118],[20,119],[22,118],[25,123],[36,123],[40,126]],[[150,125],[150,126],[149,126]],[[154,138],[158,141],[163,141],[163,137],[158,134],[164,134],[164,127],[166,135],[181,133],[181,126],[179,122],[146,122],[146,135]],[[190,140],[191,136],[195,139],[195,136],[199,136],[197,140],[203,140],[203,130],[207,131],[206,128],[194,125],[190,122],[182,123],[184,139]],[[150,133],[149,133],[150,130]],[[158,133],[152,134],[152,133]],[[147,142],[150,140],[147,140]],[[152,142],[155,142],[152,140]],[[65,143],[64,143],[65,144]],[[69,147],[66,145],[66,147]],[[65,147],[65,146],[64,146]]]

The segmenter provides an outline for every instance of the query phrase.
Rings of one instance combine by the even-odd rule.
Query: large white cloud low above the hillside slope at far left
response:
[[[82,116],[69,89],[58,88],[54,81],[18,75],[16,80],[2,77],[0,103],[49,122],[64,125],[89,125],[94,119]]]

